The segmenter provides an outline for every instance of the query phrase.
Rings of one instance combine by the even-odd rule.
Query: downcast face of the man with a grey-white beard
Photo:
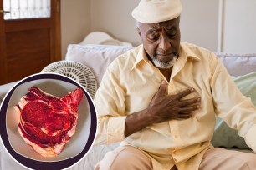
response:
[[[137,28],[147,57],[156,67],[169,69],[177,60],[181,34],[180,19],[162,23],[140,23]]]

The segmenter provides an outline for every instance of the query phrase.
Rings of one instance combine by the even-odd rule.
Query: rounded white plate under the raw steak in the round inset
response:
[[[14,90],[8,103],[6,118],[8,140],[10,141],[13,150],[24,157],[43,162],[56,162],[73,158],[74,156],[78,155],[84,149],[90,134],[90,106],[87,102],[85,94],[82,101],[79,103],[78,124],[76,126],[74,135],[69,139],[69,142],[66,143],[64,150],[58,156],[47,158],[41,156],[39,153],[36,153],[33,148],[24,142],[23,138],[18,133],[17,115],[13,108],[18,104],[20,98],[28,92],[28,89],[33,86],[39,87],[44,92],[58,97],[63,97],[77,88],[74,86],[74,84],[55,79],[39,79],[31,82],[25,82],[18,86]]]

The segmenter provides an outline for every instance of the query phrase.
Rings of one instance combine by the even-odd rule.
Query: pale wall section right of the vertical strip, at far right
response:
[[[255,0],[223,0],[222,51],[256,53]]]

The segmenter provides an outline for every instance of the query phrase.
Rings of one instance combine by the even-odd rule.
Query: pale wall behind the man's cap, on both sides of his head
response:
[[[138,45],[136,22],[131,11],[138,0],[91,0],[91,31],[104,31],[121,41]],[[182,0],[182,41],[217,51],[218,1]]]

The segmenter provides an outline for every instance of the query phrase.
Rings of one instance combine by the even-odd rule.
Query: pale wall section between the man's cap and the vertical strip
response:
[[[182,41],[218,48],[218,0],[182,0]]]

